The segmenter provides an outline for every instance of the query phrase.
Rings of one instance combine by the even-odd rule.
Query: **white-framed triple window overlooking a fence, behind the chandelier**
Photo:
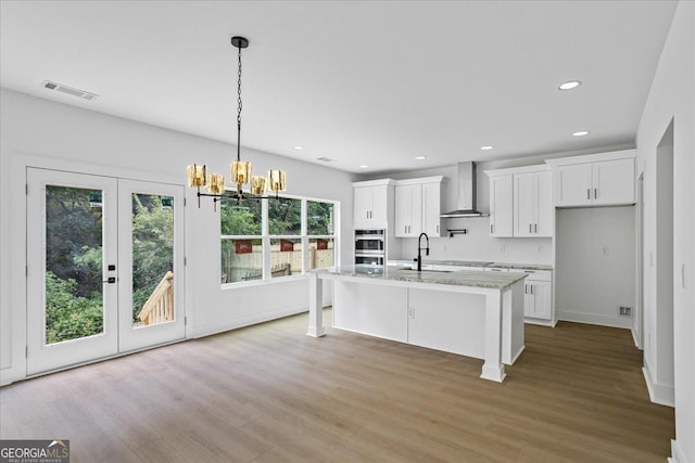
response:
[[[285,196],[223,202],[222,283],[278,279],[333,266],[336,209],[332,202]]]

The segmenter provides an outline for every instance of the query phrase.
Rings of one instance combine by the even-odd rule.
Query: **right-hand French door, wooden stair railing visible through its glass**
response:
[[[119,350],[186,337],[184,189],[118,180]]]

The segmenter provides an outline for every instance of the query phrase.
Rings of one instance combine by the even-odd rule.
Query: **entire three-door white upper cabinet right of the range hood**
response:
[[[490,235],[553,236],[553,175],[545,165],[486,170]]]

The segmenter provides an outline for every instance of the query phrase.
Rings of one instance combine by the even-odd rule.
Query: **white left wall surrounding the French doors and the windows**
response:
[[[28,163],[184,184],[186,165],[193,162],[227,172],[236,147],[7,89],[1,89],[0,97],[0,380],[4,384],[25,375],[26,236],[22,166]],[[285,168],[288,194],[341,202],[339,224],[344,239],[340,253],[351,255],[353,176],[253,150],[242,150],[242,157],[253,163],[255,171]],[[204,201],[199,209],[192,189],[188,189],[187,197],[188,336],[307,309],[308,284],[304,278],[273,282],[271,291],[268,285],[222,290],[218,213],[213,211],[211,201]]]

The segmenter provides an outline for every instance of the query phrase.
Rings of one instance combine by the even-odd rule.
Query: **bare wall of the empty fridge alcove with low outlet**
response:
[[[559,320],[632,327],[635,207],[557,209],[555,313]]]

